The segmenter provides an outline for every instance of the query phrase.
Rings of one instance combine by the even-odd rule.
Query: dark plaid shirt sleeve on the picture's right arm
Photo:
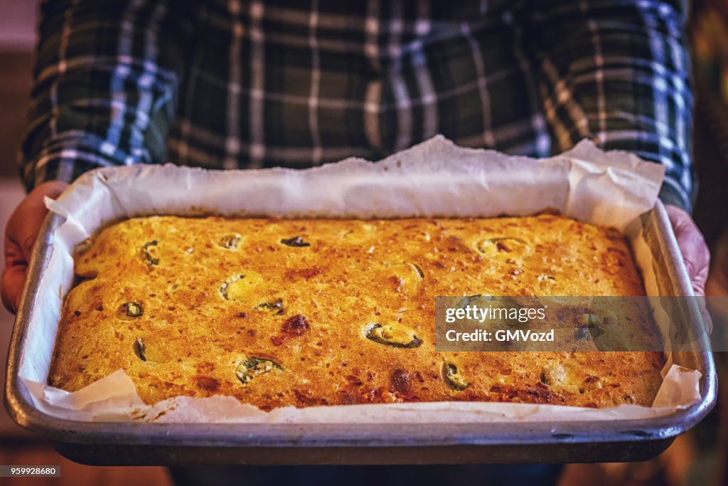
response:
[[[680,1],[534,0],[526,31],[551,145],[582,138],[665,165],[660,198],[695,200]]]

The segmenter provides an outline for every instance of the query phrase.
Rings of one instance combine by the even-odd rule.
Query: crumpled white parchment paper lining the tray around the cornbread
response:
[[[229,396],[178,396],[143,403],[122,370],[75,393],[45,385],[61,297],[73,282],[73,248],[104,224],[131,216],[213,211],[225,216],[498,216],[556,208],[584,222],[628,232],[657,200],[664,168],[590,141],[542,160],[464,149],[442,136],[379,162],[347,159],[295,171],[205,171],[173,165],[103,168],[78,179],[51,211],[66,217],[52,238],[28,324],[20,377],[36,407],[84,421],[175,423],[467,423],[472,421],[615,420],[668,415],[700,400],[700,372],[665,365],[653,407],[589,409],[536,404],[432,402],[364,404],[263,412]],[[644,248],[644,245],[642,246]],[[648,295],[658,295],[652,254],[639,251]]]

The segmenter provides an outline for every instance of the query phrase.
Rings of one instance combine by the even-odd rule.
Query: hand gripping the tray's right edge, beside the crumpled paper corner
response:
[[[697,229],[695,222],[690,215],[673,205],[665,205],[670,216],[670,223],[673,225],[675,238],[678,240],[678,247],[685,261],[687,275],[692,283],[695,295],[705,296],[705,281],[708,280],[708,272],[711,269],[711,252],[705,243],[703,233]],[[698,299],[700,310],[703,313],[703,321],[708,333],[713,331],[711,315],[705,307],[705,299]]]

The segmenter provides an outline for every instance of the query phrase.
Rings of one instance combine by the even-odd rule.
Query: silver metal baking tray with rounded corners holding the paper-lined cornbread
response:
[[[647,241],[657,248],[662,295],[692,295],[667,213],[661,203],[643,217]],[[19,378],[36,285],[52,254],[50,235],[62,219],[51,215],[33,251],[23,303],[9,351],[5,407],[12,418],[49,439],[71,460],[96,465],[221,464],[435,464],[565,463],[646,460],[692,428],[716,401],[711,353],[673,353],[673,361],[697,369],[700,402],[646,420],[582,420],[553,423],[392,425],[91,423],[64,420],[34,407]],[[697,305],[676,310],[702,325]],[[705,348],[709,349],[709,348]]]

